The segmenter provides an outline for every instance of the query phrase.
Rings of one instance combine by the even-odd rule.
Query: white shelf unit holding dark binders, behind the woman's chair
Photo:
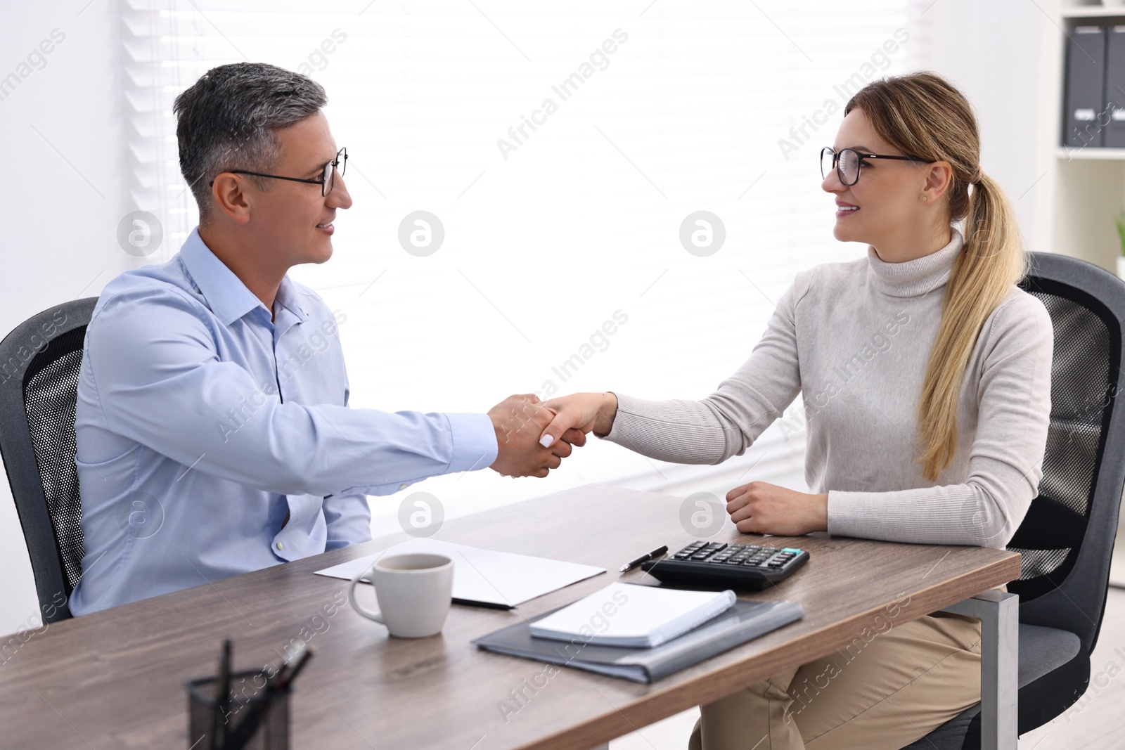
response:
[[[1058,10],[1056,48],[1058,84],[1054,97],[1054,145],[1052,184],[1051,250],[1073,255],[1117,273],[1122,254],[1115,219],[1125,208],[1125,148],[1063,146],[1063,112],[1065,107],[1066,35],[1076,26],[1091,21],[1125,25],[1125,4],[1105,6],[1096,2],[1064,0]]]

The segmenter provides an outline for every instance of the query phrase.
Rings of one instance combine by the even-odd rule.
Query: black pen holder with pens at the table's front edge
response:
[[[258,729],[243,746],[245,750],[289,750],[289,687],[267,695],[262,689],[266,677],[260,670],[231,674],[231,702],[226,716],[218,717],[218,733],[226,726],[225,750],[234,750],[233,732],[240,722],[254,714],[260,715]],[[215,728],[216,692],[218,678],[202,677],[184,684],[188,690],[188,748],[208,750],[224,748],[223,738],[213,746],[212,732]],[[262,706],[268,702],[268,705]],[[260,712],[260,708],[264,711]]]

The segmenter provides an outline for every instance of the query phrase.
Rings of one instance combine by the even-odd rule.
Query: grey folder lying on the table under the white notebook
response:
[[[586,669],[634,683],[652,683],[804,616],[792,602],[739,599],[723,614],[680,638],[654,649],[637,649],[593,645],[579,639],[567,643],[532,638],[529,624],[549,614],[510,625],[472,642],[477,648],[496,653]]]

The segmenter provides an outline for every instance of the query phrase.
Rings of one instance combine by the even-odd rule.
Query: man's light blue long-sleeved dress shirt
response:
[[[367,541],[364,495],[496,460],[485,414],[349,408],[343,316],[288,277],[273,310],[198,229],[106,286],[74,419],[75,615]]]

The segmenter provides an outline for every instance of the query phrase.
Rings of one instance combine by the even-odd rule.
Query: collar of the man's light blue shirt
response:
[[[202,292],[207,305],[223,325],[231,325],[254,308],[261,308],[267,319],[272,315],[266,309],[262,300],[258,299],[254,292],[250,291],[246,284],[210,251],[199,236],[199,227],[191,231],[180,247],[180,259]],[[308,319],[308,314],[300,305],[300,295],[288,274],[281,279],[276,301],[292,311],[302,322]]]

